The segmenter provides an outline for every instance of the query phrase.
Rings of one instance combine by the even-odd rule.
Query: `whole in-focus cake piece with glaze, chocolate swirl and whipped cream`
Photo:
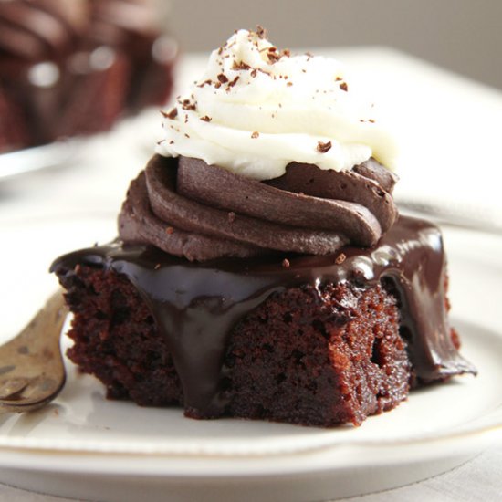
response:
[[[291,132],[288,113],[302,111],[290,89],[316,68],[310,61],[261,31],[236,32],[213,53],[215,73],[165,113],[166,139],[131,183],[118,238],[53,263],[74,313],[68,356],[110,398],[183,406],[193,418],[330,427],[476,372],[448,324],[441,233],[398,215],[375,120],[337,110],[343,140],[320,135],[317,120],[299,120],[316,141]],[[326,85],[344,99],[349,85],[332,75]],[[277,108],[256,99],[267,85],[284,91]],[[213,91],[224,105],[205,100]],[[228,131],[218,113],[241,92],[260,104],[246,108],[247,130],[230,114],[239,128]]]

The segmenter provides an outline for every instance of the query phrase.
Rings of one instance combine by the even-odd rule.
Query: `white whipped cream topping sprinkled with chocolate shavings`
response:
[[[262,30],[239,30],[214,50],[164,118],[158,153],[255,180],[281,176],[290,162],[346,171],[374,157],[394,168],[392,134],[340,62],[291,56]]]

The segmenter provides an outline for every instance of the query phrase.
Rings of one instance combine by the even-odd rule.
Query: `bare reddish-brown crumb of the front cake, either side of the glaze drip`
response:
[[[89,266],[60,278],[74,312],[68,357],[81,371],[97,376],[111,399],[183,405],[167,340],[131,282]],[[403,401],[409,380],[392,294],[380,285],[306,285],[274,293],[235,325],[220,394],[226,416],[359,425]]]

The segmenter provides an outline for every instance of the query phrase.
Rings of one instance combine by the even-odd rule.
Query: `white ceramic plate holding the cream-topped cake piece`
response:
[[[36,310],[35,297],[42,302],[52,288],[42,271],[64,251],[61,244],[37,253],[28,247],[29,256],[22,256],[19,248],[33,238],[60,243],[62,234],[68,246],[85,246],[113,230],[109,221],[82,220],[71,228],[59,222],[3,232],[5,242],[17,243],[12,256],[0,260],[11,329],[19,325],[16,313],[27,317],[19,307],[25,289],[16,289],[23,262],[29,283],[44,284],[27,301]],[[106,401],[98,382],[68,365],[68,383],[56,402],[37,413],[0,416],[0,480],[99,500],[137,500],[145,486],[149,500],[166,494],[169,500],[223,500],[235,497],[235,489],[240,500],[320,500],[400,486],[459,465],[502,437],[502,238],[453,229],[445,237],[455,327],[465,357],[479,369],[476,378],[413,392],[359,428],[322,430],[198,422],[179,410]],[[12,332],[0,334],[6,339]]]

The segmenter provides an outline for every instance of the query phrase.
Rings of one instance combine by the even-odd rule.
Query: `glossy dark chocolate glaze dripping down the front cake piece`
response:
[[[345,255],[341,263],[337,258]],[[390,282],[401,305],[402,329],[419,382],[476,373],[451,340],[444,306],[444,251],[439,229],[400,217],[376,246],[345,246],[331,255],[219,258],[202,263],[148,245],[116,241],[59,257],[51,271],[74,274],[80,265],[103,267],[129,278],[168,340],[191,414],[225,412],[220,388],[229,373],[225,350],[235,323],[270,295],[302,284],[349,281],[356,288]],[[319,295],[319,302],[322,301]]]

